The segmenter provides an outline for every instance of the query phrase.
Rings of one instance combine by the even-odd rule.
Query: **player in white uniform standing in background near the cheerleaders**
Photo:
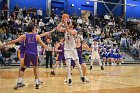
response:
[[[99,55],[99,45],[96,40],[93,41],[93,44],[91,45],[92,53],[91,53],[91,65],[90,65],[90,70],[92,69],[93,66],[93,61],[95,59],[98,59],[99,65],[101,66],[101,70],[104,70],[103,64],[100,59]]]

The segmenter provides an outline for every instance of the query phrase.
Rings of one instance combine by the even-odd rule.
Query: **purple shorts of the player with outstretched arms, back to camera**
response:
[[[33,66],[38,65],[38,55],[25,54],[24,65],[30,67],[31,64]]]

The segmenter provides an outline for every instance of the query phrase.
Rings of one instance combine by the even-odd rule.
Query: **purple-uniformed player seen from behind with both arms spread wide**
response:
[[[28,32],[27,34],[21,35],[16,40],[12,40],[3,46],[14,44],[16,42],[24,41],[25,42],[25,59],[24,59],[24,65],[26,67],[30,67],[30,62],[32,62],[33,69],[34,69],[34,76],[35,76],[35,89],[39,89],[39,77],[38,77],[38,50],[37,50],[37,42],[39,42],[44,48],[47,48],[47,46],[42,42],[39,35],[36,35],[34,32],[36,28],[29,24],[28,26]],[[2,46],[2,47],[3,47]],[[24,72],[25,68],[21,68],[21,70]]]

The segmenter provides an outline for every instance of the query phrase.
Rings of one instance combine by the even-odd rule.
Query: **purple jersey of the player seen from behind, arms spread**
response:
[[[26,34],[25,53],[38,55],[36,34]]]

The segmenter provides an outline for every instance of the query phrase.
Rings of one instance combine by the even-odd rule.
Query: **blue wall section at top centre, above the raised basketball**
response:
[[[62,4],[62,2],[63,2],[63,4]],[[52,7],[53,8],[54,7],[56,7],[56,8],[61,7],[69,15],[72,15],[76,12],[76,14],[80,16],[81,15],[81,10],[89,10],[89,11],[94,12],[94,8],[93,8],[94,3],[89,1],[89,4],[87,4],[86,2],[87,2],[87,0],[53,0],[52,1]],[[71,6],[72,4],[74,4],[74,7]],[[56,5],[58,5],[58,6],[56,6]],[[58,10],[58,11],[60,11],[60,10]],[[58,12],[58,11],[56,11],[57,14],[60,14],[60,12]]]

